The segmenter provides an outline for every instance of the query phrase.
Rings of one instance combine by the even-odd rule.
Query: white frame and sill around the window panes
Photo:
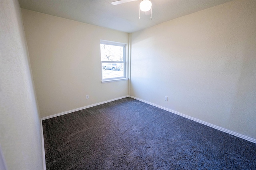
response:
[[[101,57],[100,57],[100,61],[101,61],[101,79],[102,79],[102,83],[107,83],[107,82],[116,82],[116,81],[123,81],[123,80],[128,80],[127,78],[127,63],[126,63],[126,59],[127,59],[127,44],[126,43],[119,43],[119,42],[114,42],[114,41],[106,41],[106,40],[100,40],[100,45],[101,44],[105,44],[105,45],[115,45],[115,46],[120,46],[123,47],[123,61],[101,61]],[[121,77],[114,77],[114,78],[103,78],[102,75],[102,64],[103,63],[123,63],[124,65],[124,75]]]

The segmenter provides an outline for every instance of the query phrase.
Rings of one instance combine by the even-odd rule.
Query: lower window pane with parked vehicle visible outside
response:
[[[102,79],[124,76],[124,63],[102,63]]]

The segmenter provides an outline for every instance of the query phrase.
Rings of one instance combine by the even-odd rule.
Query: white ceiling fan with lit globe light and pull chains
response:
[[[119,4],[124,4],[126,2],[132,2],[132,1],[137,1],[137,0],[117,0],[111,2],[112,5],[119,5]],[[152,19],[152,3],[151,0],[141,0],[140,2],[140,8],[139,8],[139,19],[140,19],[140,11],[147,12],[151,9],[151,17]]]

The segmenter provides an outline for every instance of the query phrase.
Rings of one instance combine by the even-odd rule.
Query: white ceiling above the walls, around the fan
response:
[[[112,5],[114,0],[19,0],[20,7],[52,16],[107,27],[124,32],[134,32],[159,23],[173,20],[228,0],[152,0],[150,11],[141,12],[141,0]]]

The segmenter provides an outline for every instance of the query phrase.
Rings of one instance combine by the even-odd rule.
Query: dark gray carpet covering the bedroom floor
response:
[[[43,121],[47,170],[256,170],[256,144],[124,98]]]

